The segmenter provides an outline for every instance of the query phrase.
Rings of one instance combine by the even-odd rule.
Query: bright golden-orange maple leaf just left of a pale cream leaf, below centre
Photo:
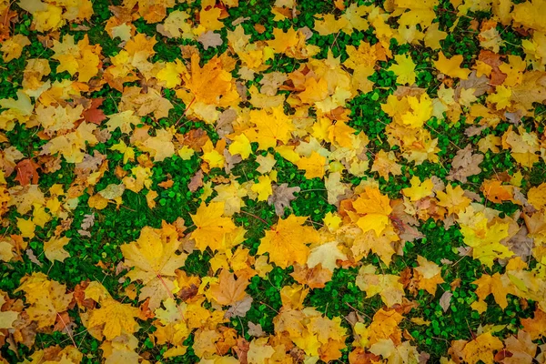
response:
[[[269,260],[280,268],[293,263],[307,263],[309,248],[306,244],[319,242],[319,233],[313,227],[303,226],[308,217],[288,216],[266,231],[260,239],[258,254],[269,254]]]

